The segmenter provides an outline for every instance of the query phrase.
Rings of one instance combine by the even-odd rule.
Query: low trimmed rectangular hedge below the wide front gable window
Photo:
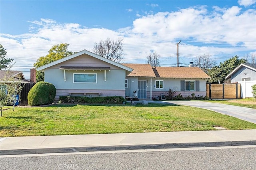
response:
[[[60,96],[59,103],[106,103],[106,104],[122,104],[125,102],[122,96],[106,96],[106,97],[85,97],[85,96]]]

